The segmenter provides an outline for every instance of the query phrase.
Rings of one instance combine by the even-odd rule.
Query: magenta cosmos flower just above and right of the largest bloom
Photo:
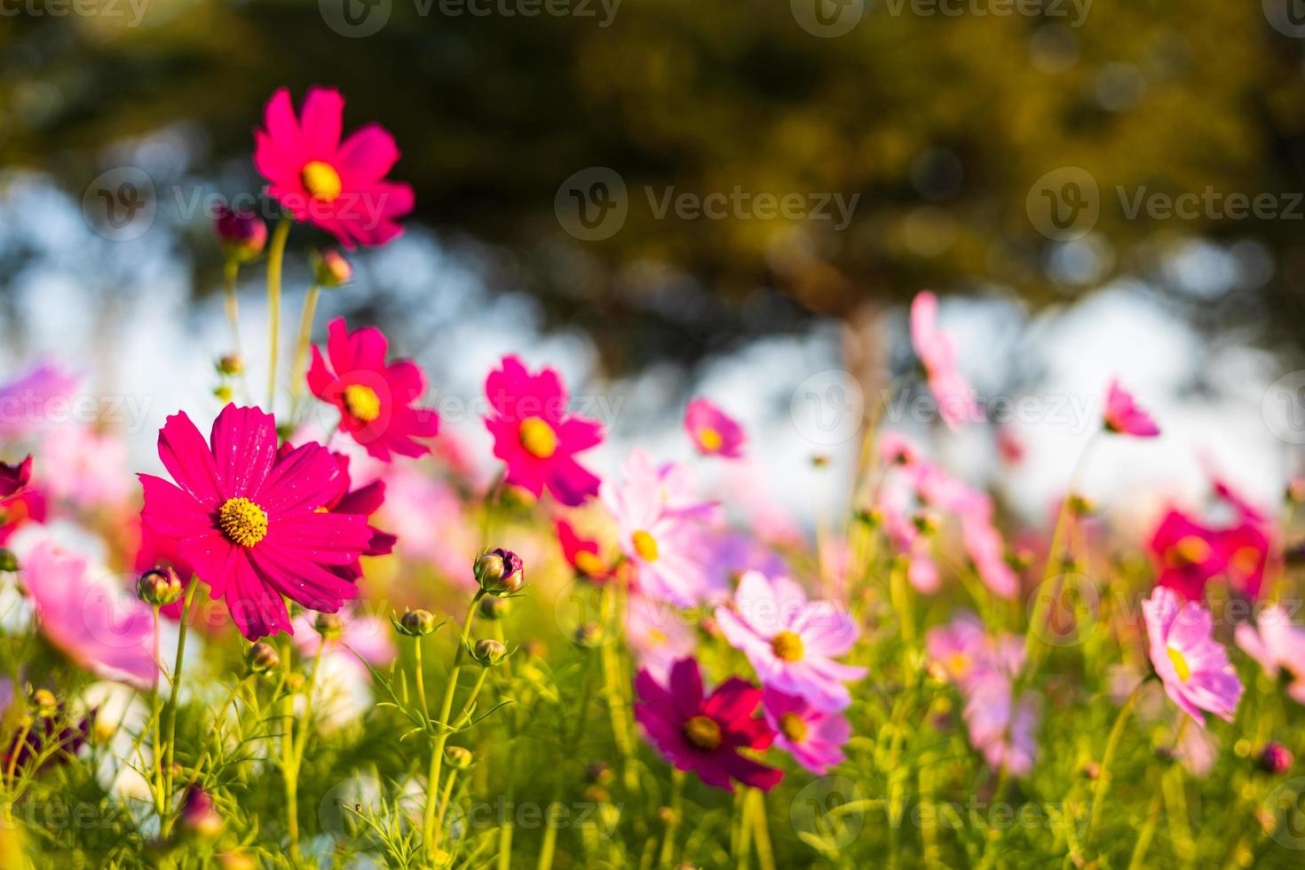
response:
[[[425,393],[425,374],[411,360],[386,363],[389,342],[381,330],[364,326],[352,333],[343,317],[326,327],[326,355],[313,347],[308,389],[339,408],[339,430],[347,432],[367,453],[382,462],[393,454],[420,457],[431,447],[418,438],[433,438],[440,417],[414,403]]]

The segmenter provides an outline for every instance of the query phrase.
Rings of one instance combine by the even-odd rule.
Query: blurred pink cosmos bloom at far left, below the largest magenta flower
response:
[[[95,578],[86,561],[38,543],[21,578],[40,633],[82,668],[138,687],[154,685],[154,617],[129,590]]]

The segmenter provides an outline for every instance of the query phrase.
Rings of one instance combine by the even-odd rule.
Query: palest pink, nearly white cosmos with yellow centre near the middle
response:
[[[716,503],[692,500],[676,466],[662,466],[642,450],[630,451],[620,485],[603,484],[603,503],[617,526],[617,543],[634,566],[638,588],[679,607],[693,607],[713,593],[706,563],[706,523]]]

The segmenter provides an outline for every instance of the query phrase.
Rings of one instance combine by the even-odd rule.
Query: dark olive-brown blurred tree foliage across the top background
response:
[[[538,3],[483,0],[491,14],[475,16],[449,0],[134,0],[133,25],[129,0],[76,0],[97,14],[63,16],[55,5],[74,0],[22,1],[43,13],[10,3],[0,22],[5,166],[80,194],[114,142],[183,124],[202,136],[200,171],[254,188],[266,98],[333,85],[346,129],[393,130],[415,219],[487,253],[501,286],[585,326],[617,369],[925,286],[1034,304],[1118,274],[1164,290],[1165,257],[1193,239],[1254,243],[1272,266],[1214,297],[1176,292],[1198,321],[1301,337],[1305,205],[1267,219],[1126,207],[1138,190],[1212,189],[1275,194],[1289,211],[1284,194],[1305,190],[1305,38],[1259,3],[874,0],[821,38],[801,4],[846,4],[569,0],[587,14],[526,17]],[[337,33],[345,3],[384,26]],[[1013,8],[1034,14],[998,14]],[[594,166],[620,173],[628,218],[581,241],[555,197]],[[1095,231],[1071,248],[1094,263],[1078,279],[1030,218],[1031,188],[1058,167],[1099,185]],[[859,200],[844,230],[659,218],[672,187]]]

